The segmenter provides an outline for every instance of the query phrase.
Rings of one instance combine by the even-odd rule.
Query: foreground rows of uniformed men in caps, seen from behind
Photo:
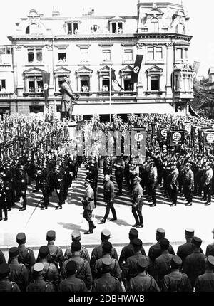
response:
[[[79,231],[71,233],[71,247],[63,253],[51,230],[35,258],[25,245],[25,233],[18,233],[18,246],[9,248],[8,263],[0,250],[0,292],[213,292],[214,243],[204,255],[202,240],[194,234],[192,228],[185,230],[186,242],[175,255],[165,230],[158,228],[157,242],[146,255],[138,230],[131,228],[129,243],[118,257],[108,229],[101,231],[101,244],[91,256],[81,246]]]

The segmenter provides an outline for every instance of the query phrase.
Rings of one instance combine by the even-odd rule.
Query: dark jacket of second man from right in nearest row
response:
[[[170,274],[164,276],[163,291],[190,292],[192,291],[192,287],[185,273],[179,270],[173,270]]]

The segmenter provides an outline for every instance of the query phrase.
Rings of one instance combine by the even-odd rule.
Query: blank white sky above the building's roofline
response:
[[[162,0],[165,2],[165,0]],[[143,2],[143,0],[141,1]],[[146,0],[145,2],[158,2]],[[190,35],[193,36],[189,49],[189,63],[200,62],[199,75],[207,77],[208,69],[214,66],[213,11],[214,1],[169,0],[171,3],[183,2],[188,12]],[[51,16],[52,6],[58,5],[61,16],[81,16],[84,7],[95,9],[96,16],[130,16],[137,14],[138,0],[6,0],[0,11],[0,44],[10,43],[6,36],[14,32],[14,23],[26,17],[30,9],[39,14]]]

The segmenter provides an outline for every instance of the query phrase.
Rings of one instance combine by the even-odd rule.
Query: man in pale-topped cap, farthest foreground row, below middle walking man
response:
[[[103,231],[101,231],[101,244],[99,246],[96,246],[96,248],[93,248],[91,252],[91,270],[94,269],[96,260],[103,257],[103,243],[104,241],[108,241],[110,239],[110,236],[111,232],[108,231],[108,229],[104,228]],[[118,253],[114,247],[111,248],[111,258],[118,260]]]

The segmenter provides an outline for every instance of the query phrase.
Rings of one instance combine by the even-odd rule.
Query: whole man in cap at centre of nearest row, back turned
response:
[[[111,265],[110,258],[102,258],[102,276],[93,282],[92,292],[123,292],[119,280],[111,276]]]

